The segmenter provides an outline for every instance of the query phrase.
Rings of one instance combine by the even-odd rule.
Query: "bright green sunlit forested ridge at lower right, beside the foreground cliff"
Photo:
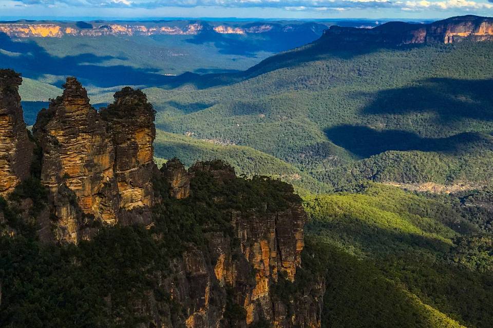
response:
[[[309,245],[326,256],[325,326],[490,326],[493,239],[474,221],[491,217],[489,197],[374,183],[306,197]]]

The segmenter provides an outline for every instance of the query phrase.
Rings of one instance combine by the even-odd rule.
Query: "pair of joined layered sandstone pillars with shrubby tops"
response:
[[[77,243],[93,222],[148,223],[154,200],[152,106],[141,91],[124,88],[102,115],[75,78],[63,87],[63,96],[39,113],[33,127],[57,239]]]

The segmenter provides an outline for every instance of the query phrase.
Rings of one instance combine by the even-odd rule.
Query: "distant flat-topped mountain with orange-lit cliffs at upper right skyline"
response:
[[[386,44],[456,43],[463,40],[475,42],[493,40],[493,18],[459,16],[431,24],[390,22],[372,29],[331,26],[321,40],[326,42]]]

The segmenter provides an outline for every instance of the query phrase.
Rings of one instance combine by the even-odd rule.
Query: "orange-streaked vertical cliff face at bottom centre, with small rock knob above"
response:
[[[173,160],[166,167],[163,177],[172,197],[183,199],[183,189],[177,187],[176,181],[194,185],[198,175],[212,178],[214,188],[234,192],[230,186],[237,179],[235,172],[221,162],[199,162],[185,171],[178,160]],[[187,192],[189,188],[188,185]],[[261,208],[223,209],[233,234],[206,233],[205,249],[193,247],[175,262],[173,273],[163,286],[173,300],[184,304],[186,327],[246,327],[262,320],[274,327],[321,326],[323,279],[288,298],[279,295],[284,285],[302,279],[297,270],[302,267],[306,214],[299,197],[292,198],[290,194],[292,189],[286,191],[286,206],[276,211],[268,210],[267,202]],[[220,194],[214,201],[224,207]],[[163,322],[179,326],[180,320],[173,323],[171,317],[155,312],[158,311],[152,310],[156,326]]]

